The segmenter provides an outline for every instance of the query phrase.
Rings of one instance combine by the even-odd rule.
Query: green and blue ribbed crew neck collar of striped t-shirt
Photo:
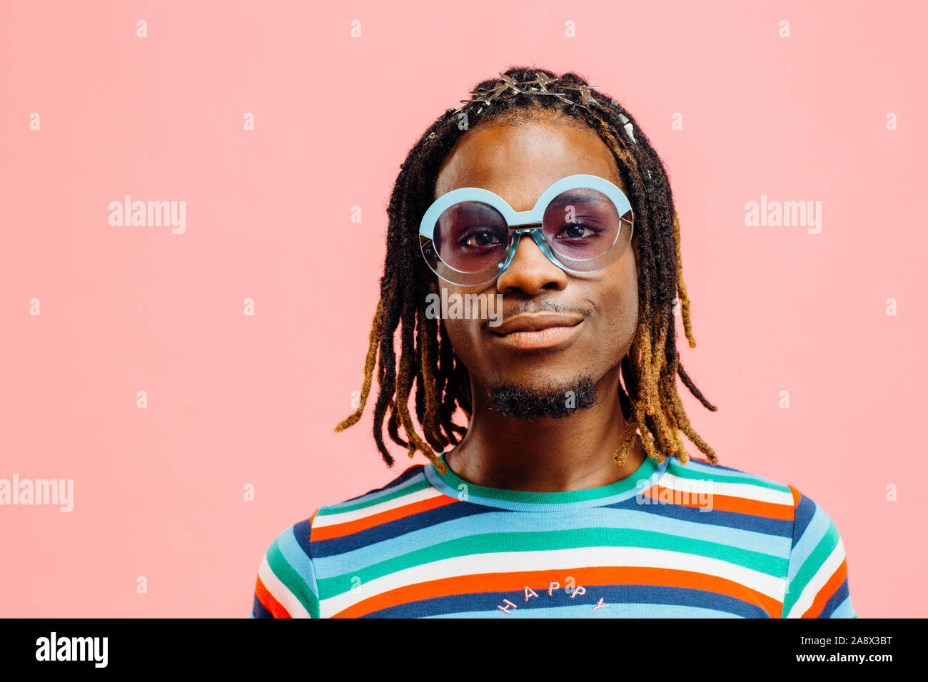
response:
[[[664,459],[663,464],[657,464],[651,457],[645,457],[631,476],[615,483],[585,490],[530,493],[523,490],[486,488],[483,485],[468,483],[448,467],[444,453],[438,457],[445,464],[447,473],[443,474],[432,462],[425,466],[424,473],[428,482],[440,493],[471,504],[510,511],[567,511],[612,505],[649,489],[664,475],[670,463],[670,457]]]

